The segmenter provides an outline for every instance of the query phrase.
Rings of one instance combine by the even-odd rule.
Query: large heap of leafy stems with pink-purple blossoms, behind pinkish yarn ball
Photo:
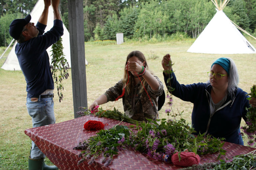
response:
[[[198,155],[218,152],[218,159],[226,153],[222,149],[224,142],[221,142],[224,138],[211,138],[211,135],[204,136],[204,133],[195,136],[192,134],[195,132],[194,128],[191,128],[183,118],[157,120],[159,123],[150,119],[148,121],[136,126],[139,130],[130,135],[129,145],[156,160],[162,160],[163,154],[170,157],[175,152],[186,150]]]

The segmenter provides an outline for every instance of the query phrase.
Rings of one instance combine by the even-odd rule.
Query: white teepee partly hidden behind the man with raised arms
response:
[[[37,23],[39,17],[42,14],[43,11],[43,7],[44,7],[44,1],[43,0],[38,0],[37,3],[35,4],[32,12],[31,12],[31,21],[30,22],[34,22],[35,24]],[[52,5],[49,7],[49,14],[48,14],[48,20],[47,20],[47,26],[45,28],[45,32],[49,31],[52,27],[53,27],[53,8]],[[69,66],[71,67],[71,60],[70,60],[70,42],[69,42],[69,32],[67,31],[65,25],[63,24],[63,28],[64,28],[64,34],[62,36],[62,44],[63,44],[63,53],[65,55],[65,58],[67,59],[67,62],[69,64]],[[5,60],[3,66],[1,67],[2,69],[5,70],[21,70],[21,67],[19,65],[19,61],[18,58],[15,54],[15,46],[17,44],[17,41],[14,43],[10,53],[7,56],[7,59]],[[48,52],[48,55],[50,57],[50,64],[52,62],[52,46],[49,47],[46,51]],[[88,64],[88,62],[86,61],[86,64]]]

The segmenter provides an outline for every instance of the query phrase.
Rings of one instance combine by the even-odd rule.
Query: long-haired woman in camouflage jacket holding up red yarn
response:
[[[132,51],[128,54],[124,71],[123,79],[98,97],[89,107],[90,110],[93,110],[97,105],[115,101],[121,97],[124,112],[130,118],[138,121],[147,121],[145,118],[158,119],[157,101],[163,93],[164,86],[157,76],[148,71],[148,64],[143,53]],[[98,108],[93,110],[93,112],[98,111]]]

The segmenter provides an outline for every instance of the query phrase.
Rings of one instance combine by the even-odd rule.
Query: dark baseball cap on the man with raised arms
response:
[[[22,19],[14,19],[11,22],[10,28],[9,28],[9,33],[11,37],[14,38],[15,40],[18,40],[23,30],[23,27],[27,25],[30,22],[30,20],[31,20],[30,14],[28,14],[25,18],[22,18]]]

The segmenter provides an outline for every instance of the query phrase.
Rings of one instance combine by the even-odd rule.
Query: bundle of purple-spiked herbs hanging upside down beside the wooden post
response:
[[[67,59],[64,57],[63,54],[63,45],[62,45],[62,38],[60,37],[60,40],[57,41],[55,44],[52,45],[52,63],[51,63],[51,69],[53,74],[53,79],[57,85],[57,91],[59,96],[59,101],[61,102],[63,99],[63,79],[67,79],[69,64],[67,62]]]

